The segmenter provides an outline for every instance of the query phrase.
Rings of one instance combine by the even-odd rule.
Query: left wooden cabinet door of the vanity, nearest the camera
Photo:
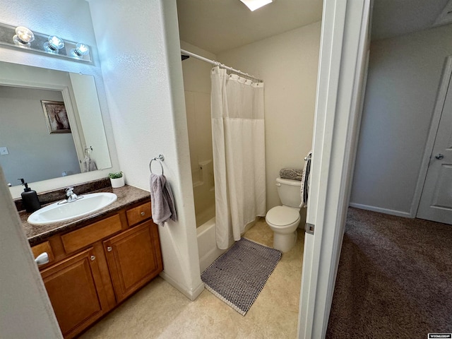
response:
[[[101,280],[92,247],[42,270],[41,275],[65,338],[73,338],[104,313],[105,300],[97,293]]]

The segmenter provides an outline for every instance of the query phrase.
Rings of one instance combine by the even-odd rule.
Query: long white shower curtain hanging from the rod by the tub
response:
[[[266,214],[263,83],[218,66],[210,78],[216,240],[227,249]]]

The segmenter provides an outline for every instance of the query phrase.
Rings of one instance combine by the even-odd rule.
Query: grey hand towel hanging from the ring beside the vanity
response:
[[[169,219],[177,221],[174,197],[164,175],[150,174],[150,200],[152,218],[157,225]]]

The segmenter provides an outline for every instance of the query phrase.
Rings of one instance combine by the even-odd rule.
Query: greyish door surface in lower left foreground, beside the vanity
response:
[[[0,166],[0,337],[62,339]]]

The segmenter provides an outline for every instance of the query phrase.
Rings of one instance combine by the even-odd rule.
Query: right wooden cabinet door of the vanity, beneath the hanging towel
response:
[[[104,242],[117,302],[162,271],[157,225],[144,222]]]

